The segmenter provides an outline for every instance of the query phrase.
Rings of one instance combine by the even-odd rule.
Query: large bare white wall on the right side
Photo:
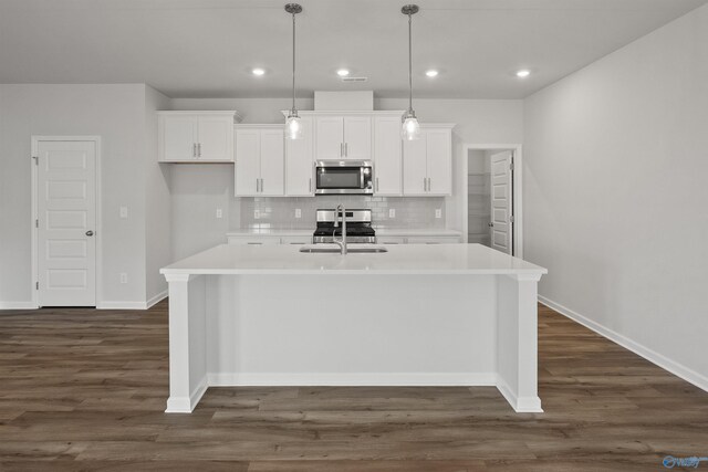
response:
[[[708,388],[708,7],[524,109],[540,294]]]

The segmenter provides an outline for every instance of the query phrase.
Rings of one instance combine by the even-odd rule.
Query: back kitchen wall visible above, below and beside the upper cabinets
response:
[[[312,99],[298,99],[300,109],[312,109]],[[242,123],[282,123],[281,109],[289,98],[176,98],[173,109],[236,109]],[[467,177],[464,175],[462,144],[521,143],[523,113],[521,101],[414,99],[424,123],[456,123],[452,130],[454,198],[446,199],[447,227],[462,229]],[[406,99],[375,99],[375,109],[406,109]],[[231,221],[239,221],[233,195],[231,165],[173,166],[173,255],[180,259],[214,244],[226,242],[228,222],[215,218],[217,207],[229,209]],[[232,225],[233,228],[233,225]]]

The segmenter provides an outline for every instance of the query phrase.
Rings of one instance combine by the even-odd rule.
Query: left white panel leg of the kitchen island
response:
[[[168,413],[190,413],[207,390],[205,276],[173,274],[169,283]]]

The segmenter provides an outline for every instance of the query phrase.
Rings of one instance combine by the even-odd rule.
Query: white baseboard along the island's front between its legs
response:
[[[355,373],[355,374],[209,374],[210,387],[403,387],[446,386],[480,387],[496,386],[494,373]]]

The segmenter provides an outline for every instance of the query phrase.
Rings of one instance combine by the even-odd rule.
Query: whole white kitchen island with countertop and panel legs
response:
[[[163,269],[166,411],[216,386],[497,386],[516,411],[542,411],[546,270],[480,244],[387,250],[223,244]]]

